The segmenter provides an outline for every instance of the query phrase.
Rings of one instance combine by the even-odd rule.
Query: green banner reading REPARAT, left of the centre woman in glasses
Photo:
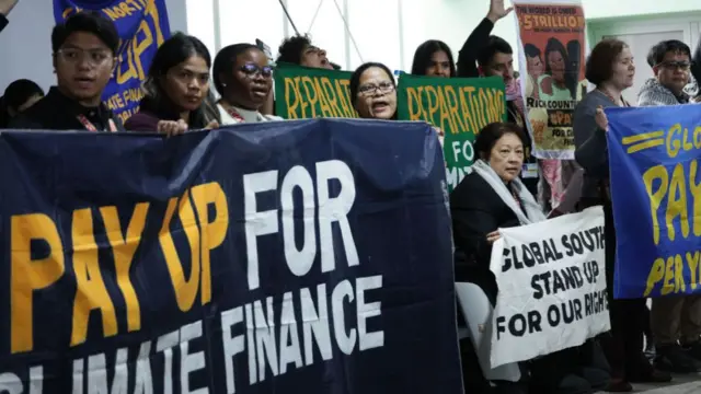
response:
[[[275,113],[285,119],[358,117],[348,82],[350,72],[278,63]]]

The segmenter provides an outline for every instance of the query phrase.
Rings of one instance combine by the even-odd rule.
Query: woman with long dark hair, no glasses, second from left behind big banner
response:
[[[196,37],[177,33],[166,39],[153,57],[139,112],[125,128],[170,136],[219,127],[219,114],[206,103],[210,66],[209,51]]]

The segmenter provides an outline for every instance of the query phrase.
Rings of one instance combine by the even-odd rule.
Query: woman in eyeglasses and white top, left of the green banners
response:
[[[261,113],[273,89],[273,68],[255,45],[235,44],[221,49],[212,73],[221,95],[217,107],[222,125],[283,119]]]

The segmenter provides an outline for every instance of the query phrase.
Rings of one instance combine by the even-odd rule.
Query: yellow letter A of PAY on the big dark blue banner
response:
[[[83,344],[88,337],[88,323],[92,311],[100,310],[104,337],[117,335],[117,316],[100,271],[91,209],[73,211],[71,228],[77,290],[70,344],[76,346]]]

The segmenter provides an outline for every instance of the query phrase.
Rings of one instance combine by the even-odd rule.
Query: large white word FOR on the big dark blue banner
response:
[[[337,181],[338,195],[331,196],[329,183]],[[246,174],[243,176],[243,209],[245,215],[245,244],[248,254],[249,289],[260,287],[260,266],[257,237],[275,234],[279,231],[278,210],[258,211],[257,195],[277,190],[278,171],[272,170],[262,173]],[[294,218],[296,212],[292,205],[292,190],[299,188],[302,193],[302,209],[304,240],[302,250],[297,248],[295,240]],[[335,269],[335,251],[332,225],[338,224],[341,239],[348,266],[359,264],[358,252],[353,240],[353,232],[347,215],[355,201],[355,181],[348,165],[340,160],[330,160],[317,163],[317,205],[314,205],[313,181],[309,171],[302,166],[292,167],[284,177],[280,190],[283,221],[283,239],[285,242],[285,257],[290,271],[302,276],[311,270],[317,257],[315,233],[313,218],[319,222],[319,243],[321,251],[321,271],[329,273]],[[315,216],[307,215],[314,211]]]

